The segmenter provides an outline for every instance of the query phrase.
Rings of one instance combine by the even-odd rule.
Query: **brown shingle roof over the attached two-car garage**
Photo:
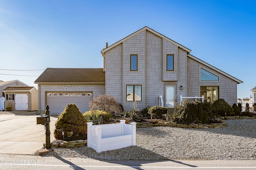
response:
[[[35,83],[105,82],[103,68],[46,68]]]

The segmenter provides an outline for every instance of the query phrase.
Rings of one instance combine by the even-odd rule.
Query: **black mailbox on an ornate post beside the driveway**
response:
[[[45,131],[45,141],[46,141],[46,148],[51,148],[51,144],[50,144],[50,111],[49,111],[49,106],[46,105],[46,111],[45,111],[45,115],[41,115],[39,117],[36,117],[36,124],[39,125],[44,125],[44,129]]]

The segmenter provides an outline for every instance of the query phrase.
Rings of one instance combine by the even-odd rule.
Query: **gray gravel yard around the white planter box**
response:
[[[256,160],[256,119],[226,120],[226,127],[137,127],[136,146],[97,153],[86,146],[53,148],[41,156],[105,160]],[[35,155],[38,155],[36,152]]]

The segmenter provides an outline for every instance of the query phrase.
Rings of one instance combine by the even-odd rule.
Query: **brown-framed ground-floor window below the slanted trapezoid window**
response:
[[[201,86],[200,96],[204,95],[204,102],[214,103],[219,99],[219,86]]]

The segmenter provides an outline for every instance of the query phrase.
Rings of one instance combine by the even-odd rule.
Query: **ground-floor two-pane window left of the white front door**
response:
[[[142,86],[141,85],[126,85],[126,101],[141,102],[142,101]]]

